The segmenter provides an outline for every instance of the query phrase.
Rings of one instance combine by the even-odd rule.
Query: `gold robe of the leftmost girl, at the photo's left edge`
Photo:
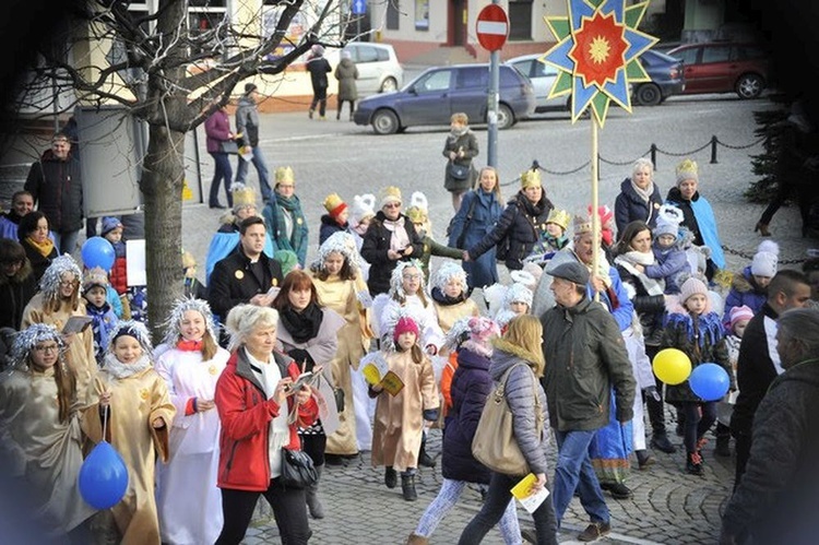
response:
[[[83,463],[79,408],[74,403],[69,420],[60,422],[54,367],[0,375],[0,449],[11,462],[4,470],[25,478],[41,523],[59,533],[95,512],[76,484]]]

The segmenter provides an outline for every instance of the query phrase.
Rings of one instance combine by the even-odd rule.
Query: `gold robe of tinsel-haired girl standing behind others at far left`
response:
[[[44,310],[43,294],[38,293],[26,305],[23,310],[23,322],[21,330],[32,323],[46,323],[62,331],[62,328],[72,316],[86,316],[85,304],[81,300],[76,310],[72,310],[67,303],[62,303],[60,309],[48,312]],[[85,404],[85,395],[88,384],[97,374],[97,360],[94,355],[94,331],[91,325],[76,334],[71,345],[66,351],[66,363],[76,377],[76,399],[80,404]]]

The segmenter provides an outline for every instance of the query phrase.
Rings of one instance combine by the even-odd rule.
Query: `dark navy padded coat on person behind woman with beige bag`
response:
[[[441,457],[446,478],[488,484],[489,470],[472,455],[480,413],[492,390],[489,358],[468,349],[458,353],[458,369],[452,377],[452,410],[447,414]]]

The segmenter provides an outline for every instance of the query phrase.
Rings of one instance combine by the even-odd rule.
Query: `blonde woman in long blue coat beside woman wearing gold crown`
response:
[[[497,168],[485,166],[478,174],[478,186],[463,196],[461,208],[452,218],[449,247],[462,250],[472,248],[491,233],[502,212],[500,176]],[[463,269],[470,291],[497,283],[495,247],[473,261],[464,261]]]

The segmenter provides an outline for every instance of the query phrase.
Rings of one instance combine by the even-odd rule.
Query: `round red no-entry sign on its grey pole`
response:
[[[475,23],[480,46],[489,52],[489,92],[487,96],[487,121],[489,122],[487,164],[498,167],[498,102],[500,94],[500,49],[507,43],[509,34],[509,19],[498,0],[485,7],[478,13]]]

